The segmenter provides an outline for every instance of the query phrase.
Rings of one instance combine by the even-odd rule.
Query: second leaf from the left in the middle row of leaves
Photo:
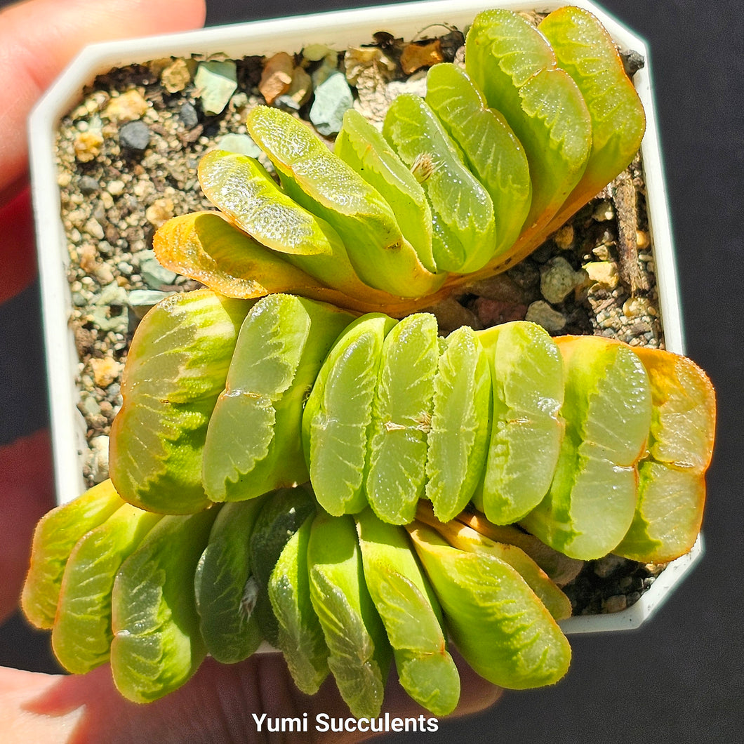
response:
[[[269,295],[256,304],[240,329],[208,426],[203,476],[209,498],[240,501],[307,481],[304,399],[351,319],[293,295]]]

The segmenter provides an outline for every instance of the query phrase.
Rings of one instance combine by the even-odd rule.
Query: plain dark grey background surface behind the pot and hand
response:
[[[260,7],[244,0],[207,3],[209,25],[376,4],[364,0],[269,0]],[[6,3],[0,0],[1,4]],[[650,46],[687,355],[708,371],[718,394],[705,558],[641,629],[572,636],[574,661],[556,687],[506,693],[496,708],[444,722],[437,734],[400,734],[385,742],[728,744],[744,740],[742,9],[734,0],[604,0],[602,4]],[[32,318],[37,317],[34,292],[28,297]],[[33,352],[30,356],[36,359]],[[28,360],[30,365],[34,359]],[[7,387],[0,392],[12,394]],[[42,671],[53,668],[52,663],[46,634],[30,631],[17,617],[0,626],[0,664]]]

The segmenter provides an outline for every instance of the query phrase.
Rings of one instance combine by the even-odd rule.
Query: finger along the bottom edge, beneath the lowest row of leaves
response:
[[[464,664],[461,673],[463,705],[455,716],[482,711],[496,702],[501,690]],[[390,719],[418,719],[420,713],[425,719],[431,717],[395,691],[385,700],[385,711]],[[261,723],[263,713],[266,718]],[[307,731],[303,731],[306,713]],[[69,677],[0,670],[0,729],[17,732],[18,742],[268,740],[269,719],[295,719],[293,731],[283,734],[287,743],[344,744],[365,738],[359,732],[319,732],[315,728],[319,713],[333,719],[350,718],[333,679],[327,679],[317,695],[303,695],[292,684],[279,654],[257,654],[231,665],[208,658],[184,687],[149,705],[124,700],[112,684],[108,667]]]

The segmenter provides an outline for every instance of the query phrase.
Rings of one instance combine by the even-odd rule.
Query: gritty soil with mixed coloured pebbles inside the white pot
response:
[[[173,215],[210,208],[196,176],[202,155],[214,147],[259,155],[246,115],[265,103],[315,124],[332,147],[346,109],[381,127],[396,97],[426,93],[427,68],[463,59],[462,31],[436,26],[410,41],[377,33],[347,50],[153,60],[115,68],[83,91],[60,122],[57,158],[89,485],[108,477],[133,330],[161,298],[199,286],[160,266],[152,242]],[[260,161],[273,171],[263,153]],[[443,333],[527,319],[552,335],[663,347],[641,161],[525,260],[429,310]],[[622,609],[640,596],[657,569],[622,561],[609,574],[612,587],[589,562],[566,589],[574,613]]]

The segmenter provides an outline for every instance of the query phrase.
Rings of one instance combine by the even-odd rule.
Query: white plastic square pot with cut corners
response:
[[[66,279],[69,257],[60,218],[60,189],[54,153],[57,125],[62,116],[80,100],[83,86],[111,68],[163,57],[219,52],[228,57],[274,54],[278,51],[292,53],[312,43],[322,43],[340,51],[349,45],[370,42],[377,31],[389,31],[395,36],[411,39],[429,25],[446,23],[464,29],[478,11],[489,7],[554,10],[563,4],[565,2],[548,1],[530,5],[525,0],[413,2],[106,42],[83,50],[39,101],[29,124],[57,501],[70,501],[83,493],[85,488],[82,472],[87,451],[86,426],[76,406],[78,358],[67,324],[72,307]],[[652,100],[648,50],[643,39],[600,7],[586,0],[573,0],[573,4],[586,7],[594,13],[620,48],[635,50],[646,60],[645,67],[635,74],[634,80],[647,115],[642,153],[658,296],[667,349],[684,353],[679,289]],[[563,623],[565,631],[600,632],[640,626],[701,556],[702,540],[698,539],[693,550],[665,568],[652,587],[629,609],[612,615],[570,618]]]

